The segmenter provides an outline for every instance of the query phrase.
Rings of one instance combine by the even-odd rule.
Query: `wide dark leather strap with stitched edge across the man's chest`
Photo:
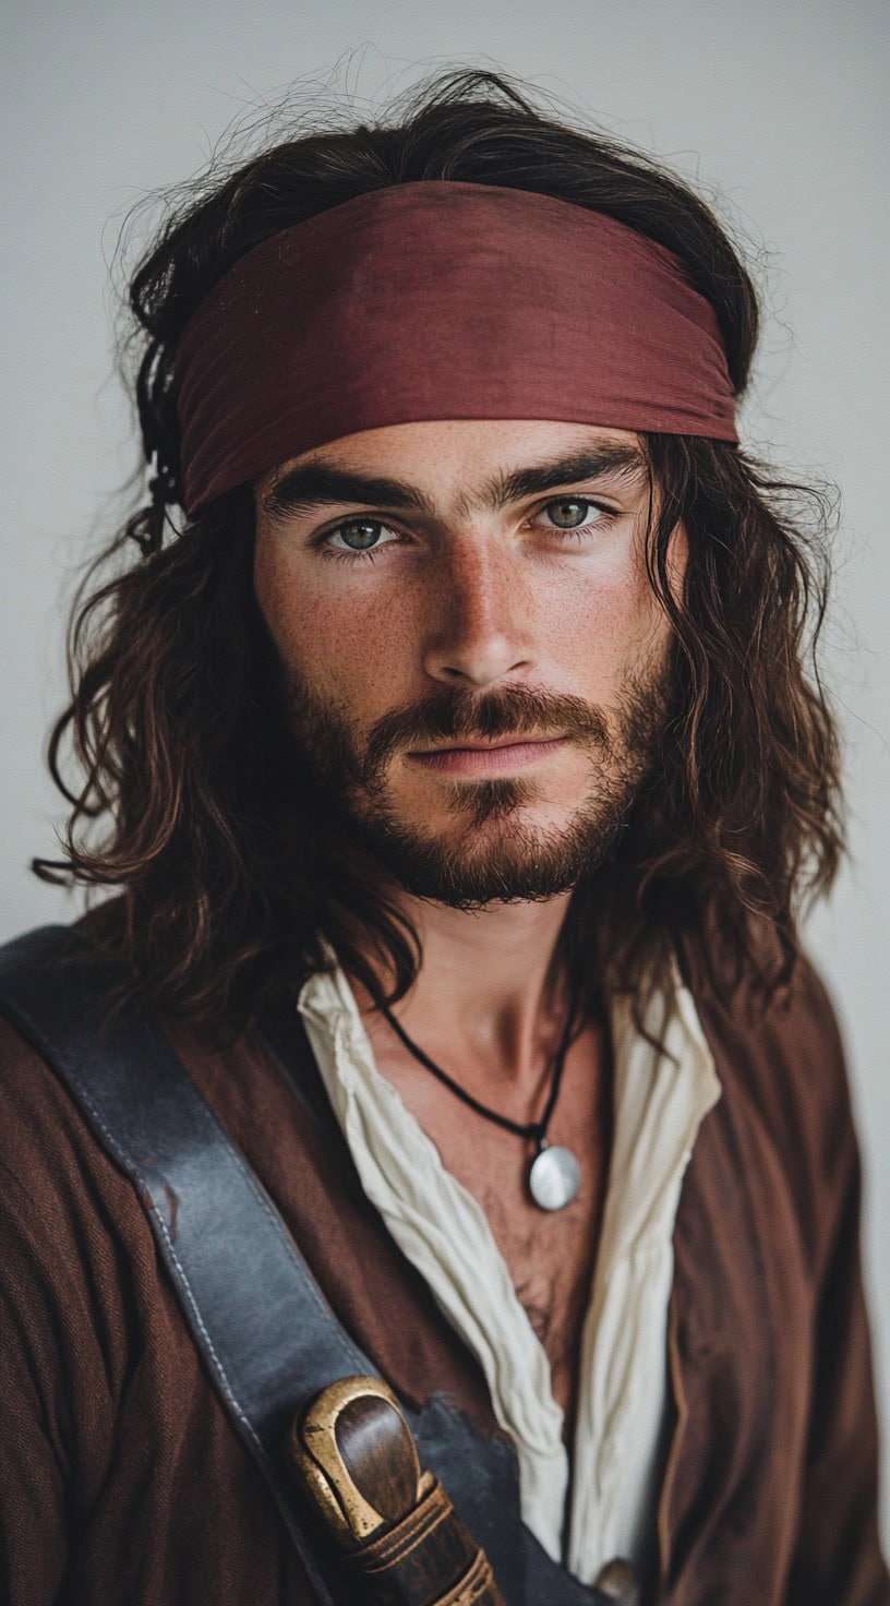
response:
[[[112,968],[76,927],[0,948],[0,1010],[71,1087],[148,1213],[199,1354],[259,1465],[325,1606],[347,1606],[289,1474],[297,1405],[374,1373],[345,1333],[259,1177],[148,1013],[108,1020]],[[519,1516],[516,1455],[439,1396],[403,1407],[421,1465],[442,1481],[509,1606],[609,1606],[543,1551]]]

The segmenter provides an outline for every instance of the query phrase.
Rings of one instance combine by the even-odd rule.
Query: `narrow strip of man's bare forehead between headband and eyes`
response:
[[[352,499],[349,479],[355,477],[363,482],[355,499],[369,499],[376,483],[376,501],[466,516],[582,479],[644,483],[647,466],[631,430],[551,419],[424,419],[342,435],[288,458],[260,475],[257,495],[268,504],[278,488],[289,501],[320,490],[331,501],[337,474],[344,475],[342,501]]]

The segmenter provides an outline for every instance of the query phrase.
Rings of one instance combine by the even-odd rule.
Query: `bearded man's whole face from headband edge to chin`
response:
[[[259,605],[337,829],[458,907],[575,887],[670,695],[636,435],[394,424],[289,459],[255,503]],[[675,586],[684,557],[678,528]]]

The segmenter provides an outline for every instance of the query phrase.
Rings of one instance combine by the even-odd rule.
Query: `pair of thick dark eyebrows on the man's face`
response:
[[[639,446],[619,443],[574,451],[570,456],[537,463],[525,469],[509,469],[485,480],[474,498],[463,498],[459,512],[471,506],[498,512],[511,503],[554,490],[559,485],[575,485],[580,480],[615,475],[631,479],[644,474],[646,458]],[[406,512],[424,512],[437,517],[435,504],[416,485],[381,475],[355,474],[337,463],[315,459],[288,469],[275,480],[262,498],[263,507],[276,514],[307,512],[333,503],[365,503],[374,507],[397,507]]]

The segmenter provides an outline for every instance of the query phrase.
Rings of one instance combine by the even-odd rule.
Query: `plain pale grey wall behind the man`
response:
[[[135,463],[112,377],[109,279],[135,202],[202,169],[233,119],[255,119],[294,80],[297,104],[366,114],[435,67],[490,66],[667,157],[747,239],[768,320],[745,440],[843,493],[824,665],[847,740],[851,861],[808,936],[850,1054],[890,1439],[890,10],[882,0],[19,0],[2,32],[0,938],[76,912],[27,861],[51,851],[63,819],[42,747],[63,699],[76,564],[112,527]],[[884,1514],[890,1534],[890,1476]]]

